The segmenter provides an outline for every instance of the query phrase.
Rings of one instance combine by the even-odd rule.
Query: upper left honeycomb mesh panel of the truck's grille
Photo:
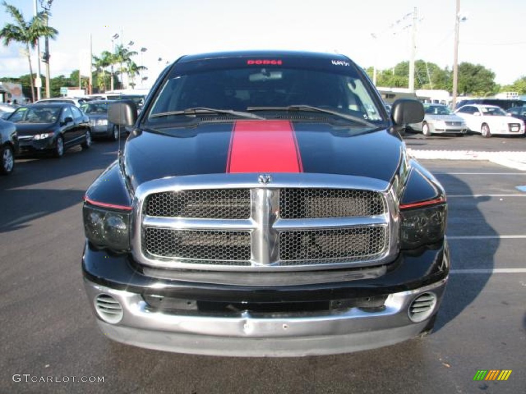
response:
[[[250,189],[183,190],[154,193],[146,214],[161,217],[248,219]]]

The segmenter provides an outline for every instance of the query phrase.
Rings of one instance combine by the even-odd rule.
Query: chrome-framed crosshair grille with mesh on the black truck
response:
[[[255,174],[149,181],[136,193],[134,256],[154,267],[212,271],[381,265],[397,253],[388,187],[319,174],[272,174],[268,185]]]

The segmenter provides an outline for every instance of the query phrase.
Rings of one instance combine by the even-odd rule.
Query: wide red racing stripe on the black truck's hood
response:
[[[298,142],[287,120],[234,123],[227,172],[302,172]]]

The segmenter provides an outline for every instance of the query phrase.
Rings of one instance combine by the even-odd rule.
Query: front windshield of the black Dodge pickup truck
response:
[[[371,128],[386,119],[366,84],[359,76],[285,67],[188,72],[167,80],[147,122],[148,126],[155,127],[187,121],[176,119],[181,114],[174,112],[195,108],[257,112],[258,116],[271,119],[286,116],[279,111],[290,107],[296,107],[296,111],[313,111],[306,108],[308,106],[353,117],[362,121],[361,127]]]

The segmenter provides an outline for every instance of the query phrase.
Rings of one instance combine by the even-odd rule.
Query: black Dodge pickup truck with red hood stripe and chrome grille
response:
[[[111,339],[222,356],[305,356],[430,333],[449,273],[442,186],[349,58],[184,56],[89,187],[82,258]]]

